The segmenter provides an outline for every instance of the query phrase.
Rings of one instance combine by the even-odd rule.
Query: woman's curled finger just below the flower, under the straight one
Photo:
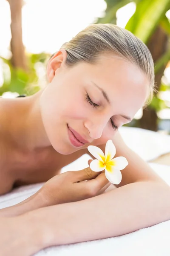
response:
[[[111,183],[106,178],[105,173],[100,173],[94,180],[89,180],[87,182],[89,186],[94,186],[94,189],[96,189],[96,193],[102,189],[106,185],[110,185]]]

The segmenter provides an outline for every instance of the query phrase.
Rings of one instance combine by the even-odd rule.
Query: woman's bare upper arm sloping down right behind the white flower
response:
[[[116,147],[115,157],[125,157],[128,161],[128,165],[125,169],[121,170],[122,181],[116,187],[124,186],[129,183],[139,181],[158,181],[164,182],[154,171],[149,164],[145,162],[136,152],[130,149],[122,139],[122,136],[117,132],[112,139]],[[99,145],[99,148],[105,152],[105,144]],[[91,155],[88,150],[87,154]],[[91,155],[91,157],[93,157]]]

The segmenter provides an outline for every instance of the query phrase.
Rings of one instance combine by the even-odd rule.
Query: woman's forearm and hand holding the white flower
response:
[[[93,172],[90,167],[65,172],[52,177],[39,191],[23,202],[0,209],[0,217],[17,216],[41,207],[83,200],[91,196],[91,189],[96,188],[95,195],[98,195],[109,185],[104,173]]]

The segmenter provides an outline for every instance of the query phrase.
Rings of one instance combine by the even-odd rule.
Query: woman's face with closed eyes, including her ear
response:
[[[96,64],[68,68],[66,56],[61,50],[49,61],[49,84],[40,98],[45,131],[60,154],[112,139],[142,107],[149,87],[144,73],[120,58],[105,55]],[[88,143],[75,145],[72,131]]]

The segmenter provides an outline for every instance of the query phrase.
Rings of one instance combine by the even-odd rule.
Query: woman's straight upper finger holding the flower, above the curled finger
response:
[[[73,172],[73,182],[79,182],[83,180],[91,180],[96,178],[101,172],[94,172],[90,166],[80,171]]]

